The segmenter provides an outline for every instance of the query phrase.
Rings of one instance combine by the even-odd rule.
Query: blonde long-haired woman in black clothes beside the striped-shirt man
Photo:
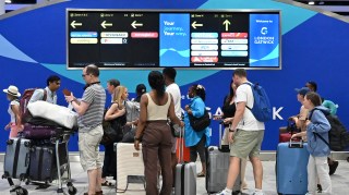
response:
[[[122,139],[122,129],[119,130],[120,126],[123,126],[127,123],[125,118],[125,108],[124,101],[129,97],[128,88],[124,86],[118,86],[113,90],[113,99],[112,105],[108,109],[105,115],[105,121],[110,121],[111,126],[118,133],[118,137],[115,143],[118,143]],[[107,181],[107,176],[113,176],[116,179],[116,153],[113,151],[113,143],[109,145],[105,145],[105,160],[101,172],[101,185],[110,186],[111,183]]]

